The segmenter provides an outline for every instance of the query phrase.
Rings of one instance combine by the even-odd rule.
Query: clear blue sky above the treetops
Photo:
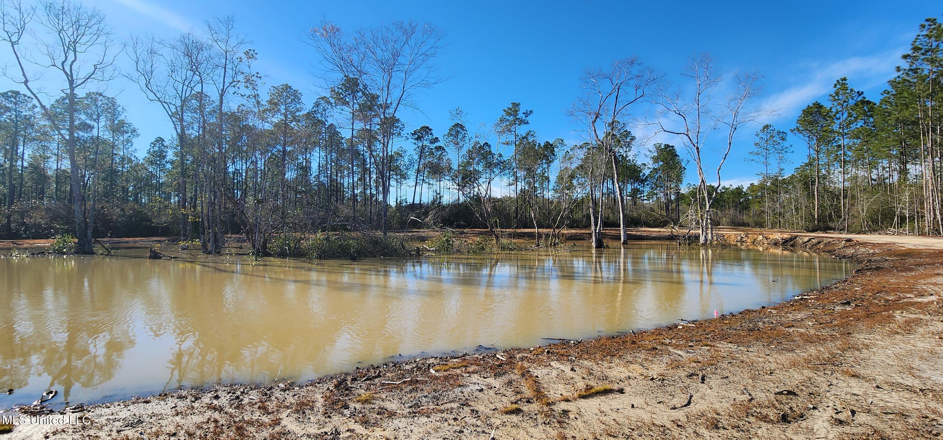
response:
[[[290,83],[310,104],[324,91],[303,41],[322,18],[341,27],[417,19],[446,34],[438,62],[448,79],[419,97],[422,112],[402,118],[411,130],[430,125],[441,134],[449,110],[461,106],[472,122],[490,124],[511,102],[534,110],[531,128],[543,139],[577,141],[565,111],[578,96],[580,73],[615,58],[637,56],[682,80],[688,57],[710,53],[723,72],[758,71],[765,90],[757,104],[778,108],[766,122],[787,130],[805,106],[826,100],[832,84],[848,76],[853,88],[877,100],[918,24],[939,16],[935,2],[323,2],[86,0],[101,9],[119,37],[170,37],[202,30],[214,16],[233,14],[258,52],[266,85]],[[3,57],[8,57],[3,52]],[[123,59],[123,63],[126,60]],[[0,80],[0,86],[13,86]],[[160,108],[124,80],[108,84],[141,132],[143,151],[173,129]],[[637,116],[645,113],[639,107]],[[749,183],[757,167],[744,157],[758,125],[743,129],[724,167],[729,183]],[[680,145],[674,139],[663,140]],[[802,160],[804,144],[790,139]],[[644,148],[644,147],[642,147]],[[689,172],[688,180],[694,178]]]

